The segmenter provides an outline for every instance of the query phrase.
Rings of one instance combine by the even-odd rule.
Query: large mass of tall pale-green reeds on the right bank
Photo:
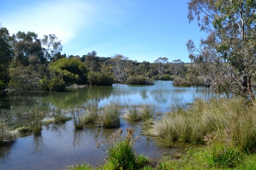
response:
[[[256,102],[243,98],[196,99],[191,107],[177,106],[154,121],[151,135],[166,140],[204,144],[207,134],[238,148],[240,152],[256,146]]]

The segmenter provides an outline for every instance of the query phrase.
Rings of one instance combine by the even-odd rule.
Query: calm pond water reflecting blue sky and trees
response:
[[[113,84],[113,86],[85,86],[68,89],[66,92],[18,92],[8,97],[0,98],[0,108],[12,112],[14,118],[19,118],[23,111],[33,104],[40,107],[63,107],[79,105],[87,101],[97,101],[99,106],[109,101],[120,104],[151,103],[168,111],[172,103],[191,103],[194,98],[211,98],[205,87],[198,90],[193,87],[172,86],[172,81],[155,81],[154,86],[134,86]],[[121,119],[124,131],[128,127],[140,134],[140,123]],[[67,165],[87,162],[97,166],[104,161],[105,155],[99,148],[94,149],[99,141],[106,139],[115,129],[102,129],[87,126],[84,130],[74,130],[71,121],[66,124],[49,124],[43,127],[41,135],[30,135],[17,138],[8,145],[0,146],[1,170],[58,170]],[[172,148],[160,146],[157,138],[140,135],[135,144],[137,153],[151,158],[163,155],[172,156],[182,153],[187,145],[175,144]]]

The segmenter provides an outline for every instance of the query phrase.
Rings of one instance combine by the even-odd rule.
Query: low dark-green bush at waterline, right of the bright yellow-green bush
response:
[[[88,82],[90,85],[96,86],[112,86],[113,78],[107,72],[92,72],[88,73]]]

